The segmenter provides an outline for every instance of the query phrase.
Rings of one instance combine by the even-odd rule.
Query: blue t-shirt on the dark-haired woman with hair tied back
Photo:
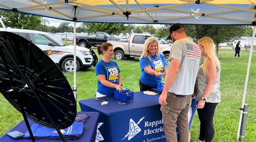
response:
[[[118,84],[118,75],[120,73],[120,69],[116,62],[110,60],[109,63],[100,60],[95,66],[95,72],[97,75],[104,75],[105,79],[113,84]],[[112,95],[114,94],[115,88],[107,87],[103,85],[98,79],[98,89],[97,92],[104,95]]]

